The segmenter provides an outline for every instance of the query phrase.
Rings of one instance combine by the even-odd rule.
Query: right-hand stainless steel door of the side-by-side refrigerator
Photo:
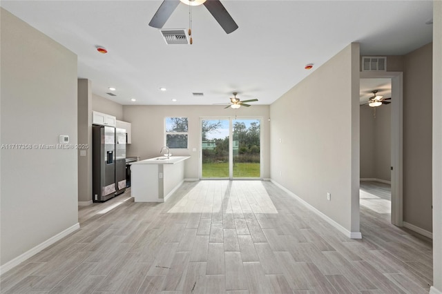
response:
[[[126,130],[115,128],[115,195],[126,190]]]

